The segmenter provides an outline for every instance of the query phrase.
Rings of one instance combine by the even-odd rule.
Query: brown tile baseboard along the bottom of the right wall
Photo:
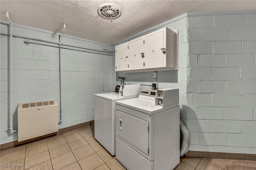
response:
[[[225,153],[225,152],[204,152],[189,150],[186,157],[192,158],[214,158],[232,160],[256,160],[256,154]]]

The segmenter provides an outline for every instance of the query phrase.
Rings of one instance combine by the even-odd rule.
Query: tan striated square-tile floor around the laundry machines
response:
[[[93,134],[94,125],[89,125],[1,150],[0,169],[125,170],[122,164],[94,139]],[[19,167],[20,165],[22,167]],[[186,157],[180,159],[180,164],[175,170],[256,170],[256,161]]]

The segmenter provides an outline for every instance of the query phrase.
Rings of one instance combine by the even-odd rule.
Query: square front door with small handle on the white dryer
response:
[[[116,134],[148,155],[147,121],[117,110]]]

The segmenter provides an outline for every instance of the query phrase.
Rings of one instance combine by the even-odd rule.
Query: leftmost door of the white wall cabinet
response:
[[[127,43],[116,47],[116,71],[127,70]]]

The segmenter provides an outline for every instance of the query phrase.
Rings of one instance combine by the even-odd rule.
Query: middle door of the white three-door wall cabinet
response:
[[[142,57],[141,54],[143,51],[143,40],[135,40],[128,43],[128,58],[127,58],[127,67],[128,70],[142,69]]]

